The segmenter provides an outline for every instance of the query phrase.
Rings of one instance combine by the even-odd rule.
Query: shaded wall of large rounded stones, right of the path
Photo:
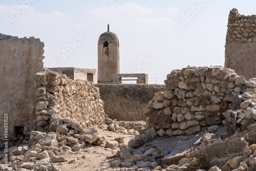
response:
[[[155,93],[142,114],[161,136],[196,134],[226,124],[226,111],[236,106],[234,95],[255,98],[252,82],[219,66],[173,70],[165,80],[166,90]]]

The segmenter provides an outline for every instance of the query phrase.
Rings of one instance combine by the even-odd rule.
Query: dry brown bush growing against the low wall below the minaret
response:
[[[146,116],[140,114],[147,103],[139,98],[112,96],[104,100],[105,114],[117,121],[139,121],[146,120]]]

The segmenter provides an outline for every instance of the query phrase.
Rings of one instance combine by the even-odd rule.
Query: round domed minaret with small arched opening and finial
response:
[[[119,40],[108,25],[98,41],[98,83],[111,82],[112,74],[120,74]]]

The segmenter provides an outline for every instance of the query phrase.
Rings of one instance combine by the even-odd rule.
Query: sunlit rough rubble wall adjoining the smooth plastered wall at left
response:
[[[36,84],[36,124],[48,130],[52,115],[83,120],[87,127],[105,122],[99,89],[91,81],[71,80],[66,75],[39,72]]]

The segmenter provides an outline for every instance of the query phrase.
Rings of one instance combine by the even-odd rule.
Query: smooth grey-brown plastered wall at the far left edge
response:
[[[38,38],[0,34],[0,137],[4,138],[4,114],[8,114],[8,138],[35,129],[34,76],[42,71],[44,43]],[[22,129],[24,127],[24,129]],[[20,132],[19,132],[20,131]],[[16,135],[17,136],[17,135]]]

